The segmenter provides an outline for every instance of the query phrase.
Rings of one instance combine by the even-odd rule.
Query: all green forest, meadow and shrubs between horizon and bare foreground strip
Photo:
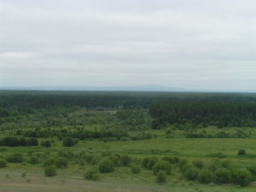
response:
[[[254,191],[254,94],[0,96],[0,174],[6,180],[48,182],[44,174],[55,176],[58,169],[51,179],[61,184],[79,185],[77,178],[84,176],[87,186],[126,183],[130,191],[169,191],[170,184],[176,191]],[[99,180],[100,185],[92,182]]]

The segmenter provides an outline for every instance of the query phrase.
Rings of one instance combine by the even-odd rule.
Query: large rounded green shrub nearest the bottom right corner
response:
[[[238,168],[232,171],[231,180],[235,184],[239,184],[240,186],[248,186],[251,183],[252,176],[250,171],[245,168]]]

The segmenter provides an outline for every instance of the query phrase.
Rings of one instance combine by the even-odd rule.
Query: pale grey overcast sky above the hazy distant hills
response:
[[[0,0],[0,86],[256,90],[256,1]]]

